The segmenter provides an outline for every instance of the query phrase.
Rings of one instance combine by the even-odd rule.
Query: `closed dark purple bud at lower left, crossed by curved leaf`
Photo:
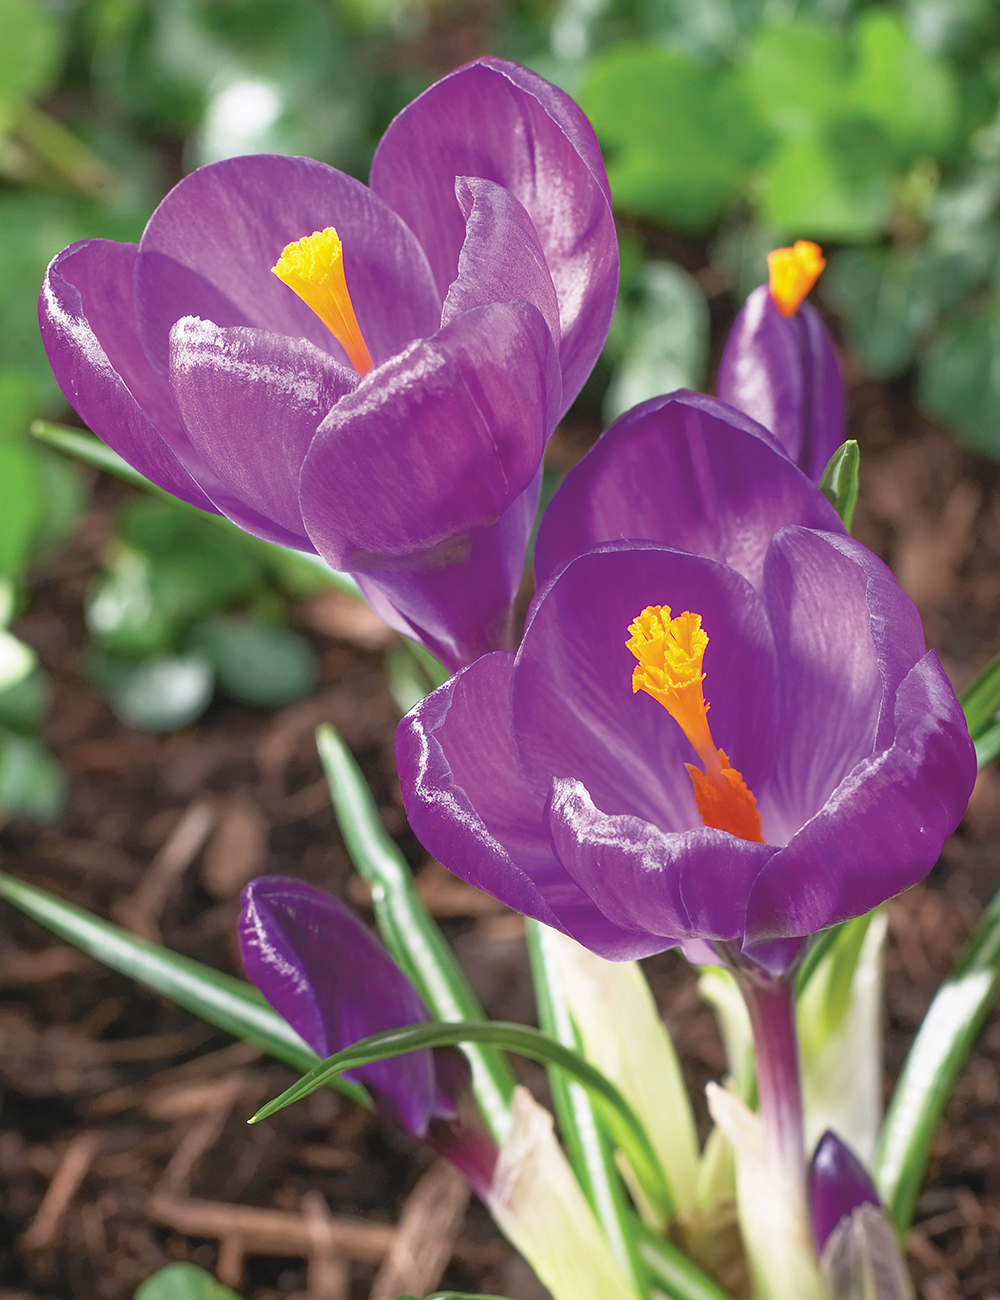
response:
[[[239,940],[252,983],[321,1057],[369,1034],[430,1019],[414,985],[358,918],[303,880],[252,880],[243,890]],[[424,1136],[436,1109],[430,1052],[391,1057],[347,1078],[369,1084],[393,1118]]]

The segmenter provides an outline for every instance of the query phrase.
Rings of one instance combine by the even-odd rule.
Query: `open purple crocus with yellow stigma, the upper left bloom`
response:
[[[66,398],[130,464],[352,572],[456,667],[512,644],[545,439],[616,281],[589,124],[484,58],[393,121],[371,187],[300,157],[200,168],[138,246],[60,254],[40,320]]]

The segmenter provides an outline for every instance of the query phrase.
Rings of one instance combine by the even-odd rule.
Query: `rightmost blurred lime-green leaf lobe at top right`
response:
[[[861,14],[854,36],[856,109],[882,127],[902,159],[944,152],[958,109],[951,68],[919,46],[901,16],[888,9]]]

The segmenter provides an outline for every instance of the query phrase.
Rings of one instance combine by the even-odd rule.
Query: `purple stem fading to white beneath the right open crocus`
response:
[[[737,970],[757,1054],[757,1092],[765,1141],[775,1169],[805,1205],[805,1138],[798,1040],[795,1027],[795,979]]]

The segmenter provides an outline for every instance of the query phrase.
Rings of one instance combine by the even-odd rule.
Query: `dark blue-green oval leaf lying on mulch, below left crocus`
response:
[[[190,649],[212,664],[222,690],[246,705],[278,708],[316,689],[319,664],[312,646],[291,628],[243,615],[199,624]]]

